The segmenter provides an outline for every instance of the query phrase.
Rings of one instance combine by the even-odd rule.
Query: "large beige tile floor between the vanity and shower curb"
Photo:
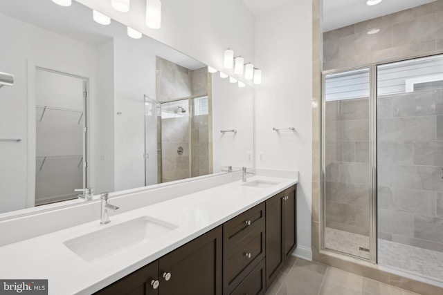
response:
[[[417,295],[293,256],[265,295]]]

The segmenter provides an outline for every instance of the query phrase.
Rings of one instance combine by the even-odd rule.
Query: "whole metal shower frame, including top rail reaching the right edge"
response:
[[[443,55],[443,51],[434,52],[431,54],[414,55],[411,57],[399,57],[395,59],[387,59],[372,64],[365,64],[358,67],[341,68],[336,70],[324,70],[321,79],[321,130],[320,130],[320,254],[334,255],[338,254],[349,258],[354,258],[360,263],[362,261],[377,265],[377,67],[392,64],[399,61],[406,61],[411,59],[419,59],[422,57],[432,57],[435,55]],[[334,73],[343,73],[350,70],[361,70],[369,68],[370,70],[370,106],[369,106],[369,124],[370,124],[370,259],[365,259],[352,254],[347,254],[342,251],[328,249],[325,247],[325,76]]]

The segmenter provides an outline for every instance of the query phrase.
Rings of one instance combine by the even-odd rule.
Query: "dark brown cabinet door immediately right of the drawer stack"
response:
[[[266,287],[284,265],[282,245],[284,191],[266,200]]]

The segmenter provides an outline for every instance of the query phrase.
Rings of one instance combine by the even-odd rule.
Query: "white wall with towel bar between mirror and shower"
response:
[[[298,247],[311,248],[311,1],[293,1],[255,20],[257,167],[297,170]],[[293,126],[296,131],[273,131]]]

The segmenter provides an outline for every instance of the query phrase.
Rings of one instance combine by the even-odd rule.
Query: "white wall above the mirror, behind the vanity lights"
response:
[[[222,57],[228,47],[245,62],[254,61],[254,17],[242,1],[162,1],[159,30],[145,25],[146,0],[132,0],[126,13],[111,8],[110,1],[78,2],[219,70],[224,70]]]

